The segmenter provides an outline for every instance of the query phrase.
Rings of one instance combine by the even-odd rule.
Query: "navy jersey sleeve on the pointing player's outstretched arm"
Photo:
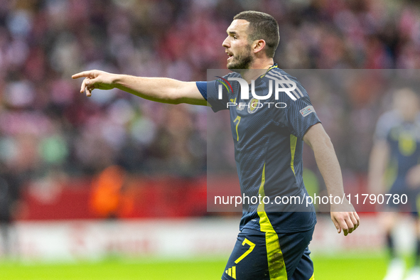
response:
[[[203,95],[204,99],[206,99],[208,104],[210,104],[212,107],[213,112],[228,109],[228,92],[220,80],[213,80],[210,82],[195,82],[195,84],[197,85],[201,95]],[[222,88],[222,99],[219,99],[219,85],[221,85]]]

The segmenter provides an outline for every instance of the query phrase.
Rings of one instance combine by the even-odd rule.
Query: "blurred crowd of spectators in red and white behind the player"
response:
[[[249,9],[279,22],[280,68],[420,68],[417,1],[0,0],[1,175],[92,176],[118,164],[129,173],[200,176],[208,139],[220,142],[220,166],[235,169],[232,151],[222,149],[232,136],[207,131],[222,114],[119,90],[87,98],[71,75],[206,80],[207,69],[226,66],[222,41],[233,16]],[[366,170],[372,128],[387,109],[372,111],[386,92],[365,87],[311,97],[333,139],[366,139],[352,149],[350,140],[335,143],[355,171]]]

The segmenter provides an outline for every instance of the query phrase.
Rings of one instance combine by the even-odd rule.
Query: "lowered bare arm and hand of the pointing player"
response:
[[[328,195],[343,198],[343,177],[341,176],[340,164],[335,155],[330,137],[323,129],[322,124],[318,123],[311,126],[303,136],[303,141],[313,150],[316,164],[325,181]],[[340,211],[343,210],[343,207],[344,211]],[[344,235],[348,235],[360,225],[360,218],[357,212],[347,200],[345,200],[345,205],[331,205],[331,220],[333,220],[338,233],[343,230]]]

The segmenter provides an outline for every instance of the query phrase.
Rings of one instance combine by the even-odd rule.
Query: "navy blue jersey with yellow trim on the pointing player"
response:
[[[302,178],[302,139],[308,128],[320,121],[306,90],[295,77],[274,65],[254,82],[254,92],[259,96],[268,95],[271,83],[271,97],[256,99],[249,86],[249,99],[242,99],[239,82],[229,79],[232,77],[241,76],[232,72],[222,79],[197,82],[197,86],[214,112],[230,110],[242,194],[249,198],[261,195],[269,198],[265,201],[270,201],[268,204],[245,201],[240,230],[298,232],[311,229],[316,223],[313,205],[303,211],[290,212],[288,209],[292,208],[274,203],[276,198],[285,196],[303,201],[308,195]],[[226,81],[231,87],[225,86]],[[276,99],[274,85],[278,81],[293,81],[297,88],[279,92]]]

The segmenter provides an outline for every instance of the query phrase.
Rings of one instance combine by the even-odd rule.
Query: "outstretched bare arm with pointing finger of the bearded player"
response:
[[[170,104],[207,105],[204,97],[198,91],[195,82],[181,82],[166,77],[134,77],[117,75],[100,70],[90,70],[72,75],[73,79],[85,77],[80,92],[87,96],[92,90],[111,90],[118,88],[133,95],[156,102]]]

